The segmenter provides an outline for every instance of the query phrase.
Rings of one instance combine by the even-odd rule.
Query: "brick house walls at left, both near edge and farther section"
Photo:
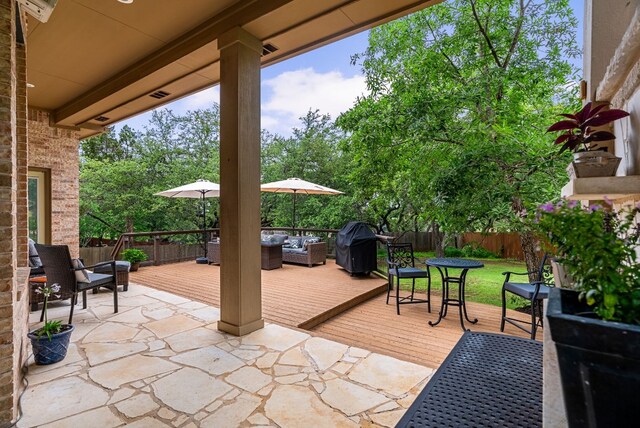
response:
[[[79,246],[78,138],[27,112],[26,47],[16,40],[15,1],[0,0],[0,424],[13,421],[28,326],[28,167],[51,177],[51,239]],[[25,29],[26,32],[26,29]],[[27,114],[28,113],[28,114]],[[28,117],[27,117],[28,115]]]

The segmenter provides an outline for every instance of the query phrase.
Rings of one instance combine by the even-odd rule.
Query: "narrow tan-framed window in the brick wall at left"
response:
[[[49,243],[51,241],[49,172],[30,169],[27,186],[29,194],[29,238],[41,244]]]

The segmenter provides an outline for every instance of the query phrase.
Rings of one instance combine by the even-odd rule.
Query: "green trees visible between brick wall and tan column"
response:
[[[81,239],[115,238],[124,231],[200,228],[198,201],[154,193],[199,178],[218,181],[219,108],[177,116],[154,111],[144,132],[119,133],[82,142]],[[218,202],[207,199],[209,227],[217,226]]]

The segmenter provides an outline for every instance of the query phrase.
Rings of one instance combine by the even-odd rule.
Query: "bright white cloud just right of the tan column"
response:
[[[346,77],[339,71],[318,73],[313,68],[286,71],[264,80],[262,85],[263,91],[270,92],[262,104],[262,128],[283,135],[300,126],[299,118],[310,109],[335,119],[366,92],[364,76]]]

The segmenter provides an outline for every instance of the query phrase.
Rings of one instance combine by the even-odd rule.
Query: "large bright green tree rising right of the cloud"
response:
[[[354,57],[370,94],[338,120],[361,203],[382,194],[398,225],[517,230],[535,266],[519,219],[566,181],[545,129],[577,103],[576,25],[567,0],[450,0],[372,30]]]

